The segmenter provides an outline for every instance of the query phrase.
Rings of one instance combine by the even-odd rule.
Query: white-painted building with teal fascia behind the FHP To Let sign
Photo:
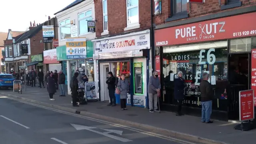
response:
[[[68,89],[70,89],[70,78],[72,78],[76,70],[87,74],[89,76],[89,81],[90,78],[94,77],[94,74],[91,74],[91,70],[93,70],[93,59],[88,59],[88,57],[86,59],[60,58],[60,54],[64,54],[64,52],[66,54],[66,40],[68,38],[85,37],[86,41],[96,38],[95,32],[92,33],[87,30],[88,20],[95,20],[94,12],[93,0],[76,0],[69,6],[66,6],[66,8],[55,13],[59,26],[57,60],[62,61],[62,70],[67,78]],[[62,52],[60,52],[61,48],[65,49],[65,51],[61,50]],[[70,90],[68,90],[68,94],[70,94]]]

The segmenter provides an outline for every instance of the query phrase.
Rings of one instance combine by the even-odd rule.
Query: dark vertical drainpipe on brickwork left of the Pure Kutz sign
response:
[[[154,25],[153,25],[153,0],[150,0],[150,18],[151,18],[151,28],[150,28],[150,42],[151,42],[151,64],[152,64],[152,73],[155,68],[155,44],[154,44]]]

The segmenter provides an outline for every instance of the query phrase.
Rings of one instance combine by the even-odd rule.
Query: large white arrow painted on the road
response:
[[[95,132],[96,134],[101,134],[103,136],[106,136],[106,137],[109,137],[109,138],[113,138],[115,140],[119,140],[121,142],[132,142],[132,140],[128,140],[126,138],[121,138],[121,137],[118,137],[118,136],[113,136],[111,134],[108,134],[108,133],[118,133],[120,134],[120,132],[117,132],[118,130],[106,130],[108,132],[98,132],[96,130],[92,130],[93,128],[95,127],[90,127],[90,126],[82,126],[82,125],[78,125],[78,124],[71,124],[74,128],[76,128],[76,130],[88,130],[88,131],[91,131],[91,132]],[[121,133],[122,134],[122,133]]]

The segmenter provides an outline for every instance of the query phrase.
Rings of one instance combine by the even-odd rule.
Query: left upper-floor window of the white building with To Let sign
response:
[[[63,40],[65,38],[71,37],[70,32],[70,19],[60,21],[60,39]]]

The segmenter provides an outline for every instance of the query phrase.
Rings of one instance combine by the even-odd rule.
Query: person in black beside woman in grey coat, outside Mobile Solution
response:
[[[108,72],[108,80],[106,84],[108,84],[108,94],[110,98],[110,103],[108,106],[116,106],[116,96],[115,96],[115,89],[116,89],[116,78],[113,76],[112,72]]]

